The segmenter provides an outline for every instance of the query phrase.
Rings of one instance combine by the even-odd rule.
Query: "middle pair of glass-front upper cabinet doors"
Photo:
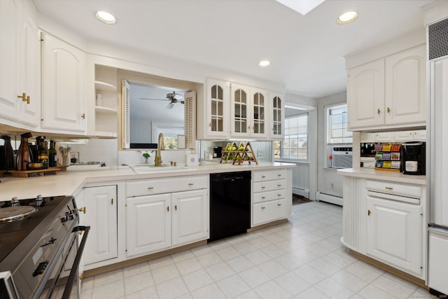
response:
[[[232,83],[230,137],[267,139],[267,90]]]

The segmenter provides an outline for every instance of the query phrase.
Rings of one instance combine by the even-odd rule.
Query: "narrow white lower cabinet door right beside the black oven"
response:
[[[83,222],[90,225],[84,265],[117,258],[117,186],[84,188],[84,205]]]

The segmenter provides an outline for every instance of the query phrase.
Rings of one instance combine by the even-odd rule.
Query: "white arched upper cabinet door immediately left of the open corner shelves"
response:
[[[85,132],[85,53],[42,33],[42,128]]]

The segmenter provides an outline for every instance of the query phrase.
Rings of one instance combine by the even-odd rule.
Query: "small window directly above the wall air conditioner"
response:
[[[327,108],[327,144],[351,144],[352,132],[347,131],[347,105]]]

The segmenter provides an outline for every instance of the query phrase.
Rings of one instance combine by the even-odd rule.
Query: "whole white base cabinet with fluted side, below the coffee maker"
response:
[[[425,279],[425,211],[424,186],[344,176],[342,242]]]

